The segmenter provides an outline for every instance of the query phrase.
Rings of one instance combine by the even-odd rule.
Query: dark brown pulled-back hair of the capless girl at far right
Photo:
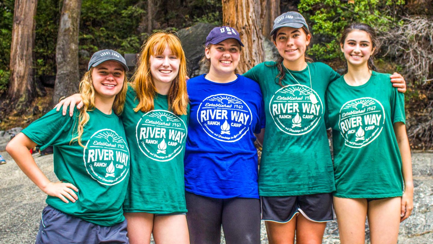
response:
[[[343,29],[343,33],[341,34],[340,44],[344,45],[344,41],[346,40],[347,35],[349,35],[349,33],[351,33],[354,30],[365,31],[370,36],[370,39],[372,40],[372,48],[374,48],[375,50],[373,54],[370,55],[370,58],[367,61],[367,66],[369,69],[377,71],[377,68],[373,61],[375,59],[375,55],[379,52],[380,42],[372,26],[369,26],[364,23],[352,23],[346,26]],[[347,71],[347,63],[346,63],[346,71]]]

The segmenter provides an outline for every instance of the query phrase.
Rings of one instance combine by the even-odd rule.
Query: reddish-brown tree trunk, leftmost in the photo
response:
[[[37,4],[37,0],[15,0],[8,97],[11,108],[19,112],[26,110],[36,96],[33,46]]]

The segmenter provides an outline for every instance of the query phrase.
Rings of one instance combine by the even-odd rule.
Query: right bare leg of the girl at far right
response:
[[[400,227],[401,197],[368,203],[368,225],[372,244],[396,244]]]

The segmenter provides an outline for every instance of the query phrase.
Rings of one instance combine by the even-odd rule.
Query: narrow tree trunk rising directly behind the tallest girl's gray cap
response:
[[[260,0],[262,5],[262,12],[260,13],[260,20],[262,21],[262,35],[268,39],[272,27],[274,27],[274,20],[280,15],[280,0]]]

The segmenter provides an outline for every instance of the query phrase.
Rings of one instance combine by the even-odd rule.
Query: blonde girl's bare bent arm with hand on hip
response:
[[[29,149],[36,146],[36,143],[30,140],[23,133],[19,133],[6,146],[7,153],[12,156],[19,168],[47,195],[60,198],[63,202],[68,203],[68,198],[72,202],[78,200],[75,192],[78,189],[71,183],[51,182],[36,165]],[[73,191],[73,190],[75,191]]]

